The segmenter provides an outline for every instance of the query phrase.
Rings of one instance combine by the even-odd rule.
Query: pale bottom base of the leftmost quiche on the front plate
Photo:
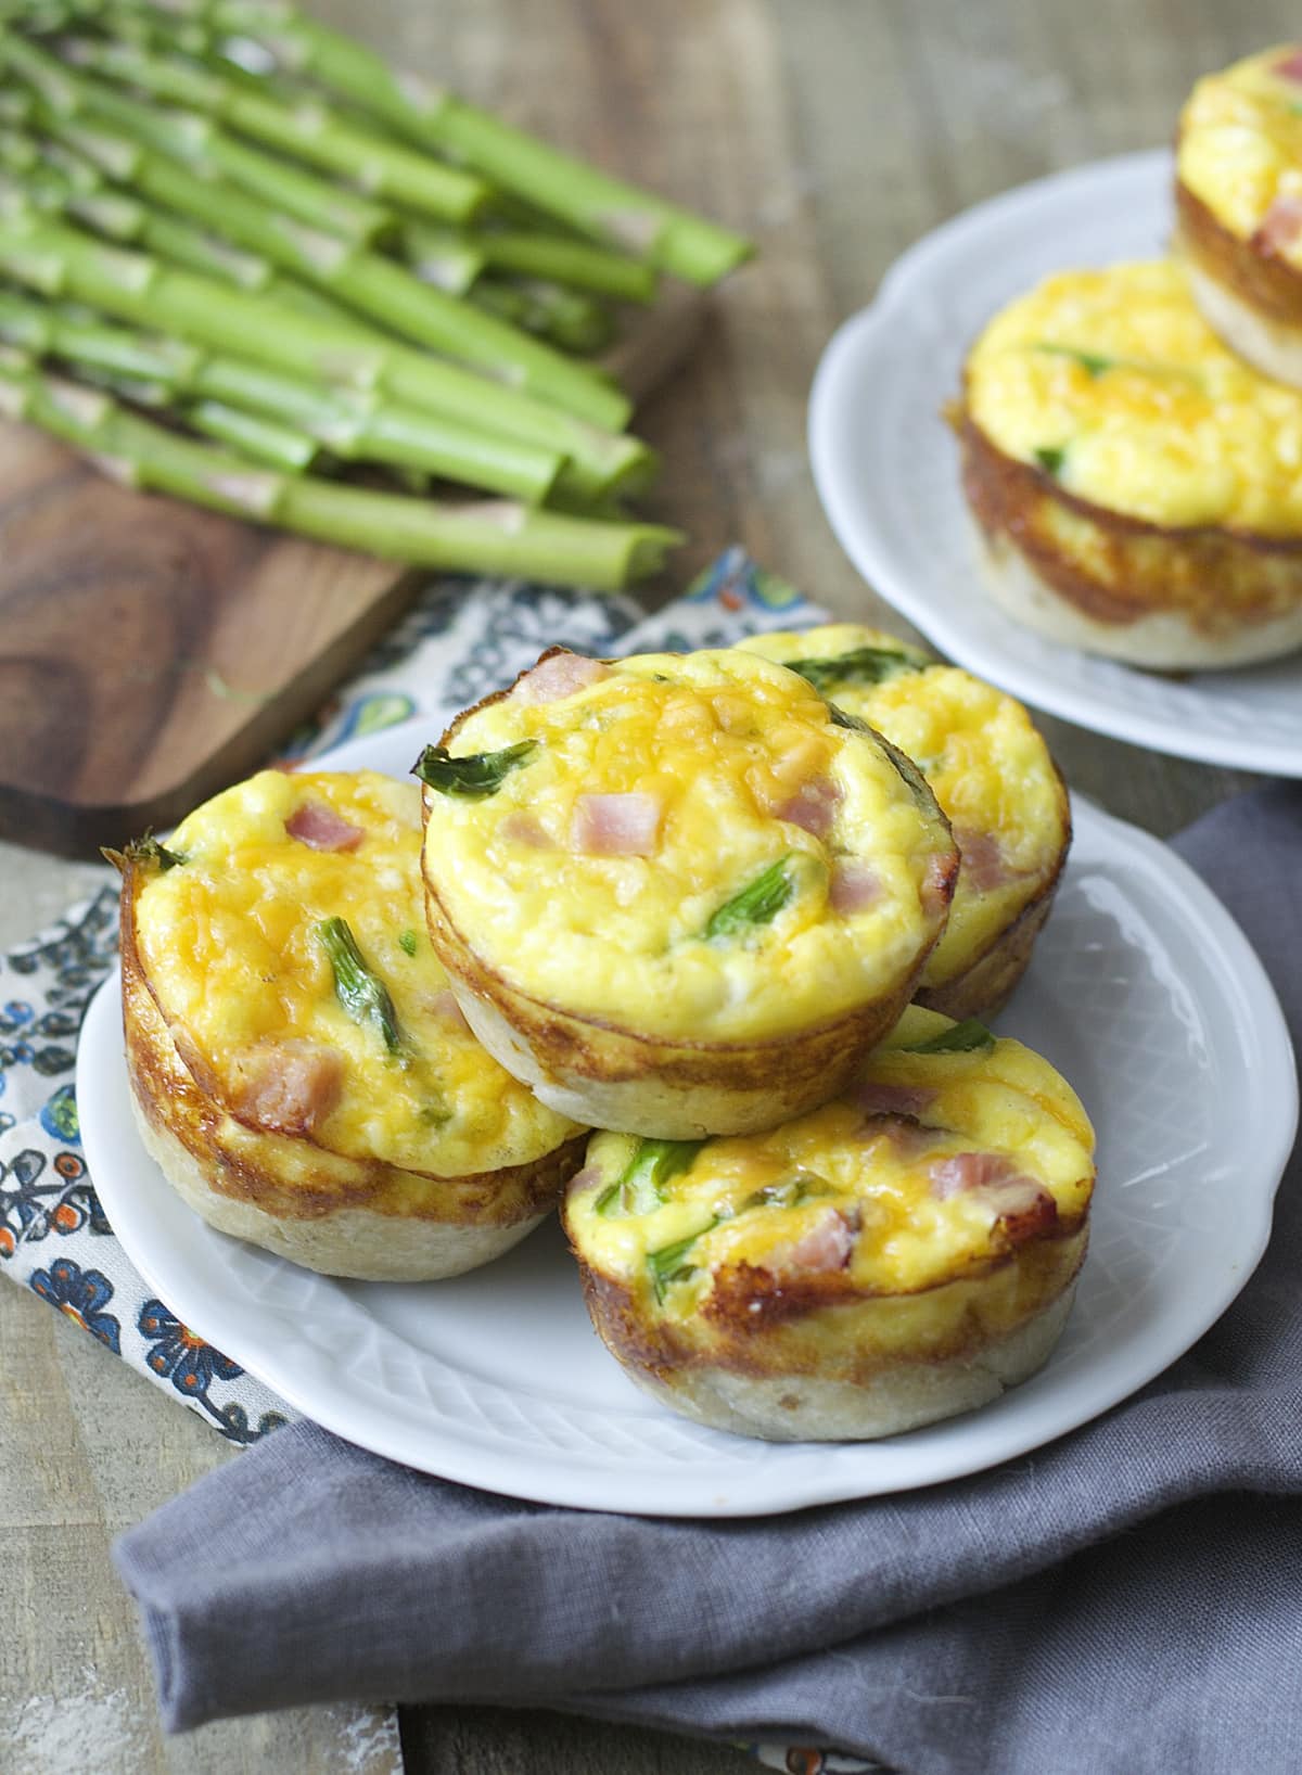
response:
[[[288,1257],[304,1269],[355,1282],[441,1282],[488,1264],[510,1251],[547,1216],[510,1227],[456,1227],[446,1221],[336,1209],[304,1219],[279,1219],[254,1202],[224,1196],[208,1182],[202,1164],[171,1129],[158,1129],[131,1092],[131,1111],[149,1157],[187,1207],[218,1232]]]

